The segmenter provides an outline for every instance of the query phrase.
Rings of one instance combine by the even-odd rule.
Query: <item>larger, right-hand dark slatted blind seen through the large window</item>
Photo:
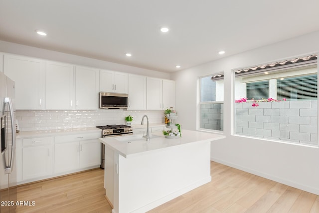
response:
[[[317,99],[317,75],[277,79],[277,98]]]

